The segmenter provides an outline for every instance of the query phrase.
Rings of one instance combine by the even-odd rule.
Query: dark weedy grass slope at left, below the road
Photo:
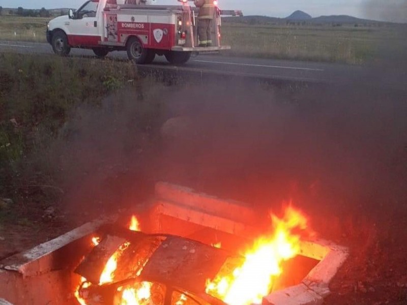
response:
[[[0,54],[0,194],[10,193],[78,105],[140,85],[135,66],[109,59]]]

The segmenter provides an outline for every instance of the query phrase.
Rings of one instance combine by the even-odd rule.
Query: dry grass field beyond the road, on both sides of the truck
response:
[[[0,16],[0,40],[45,42],[45,22],[49,18]],[[394,49],[405,49],[395,26],[294,26],[249,25],[225,22],[223,44],[226,55],[364,64],[380,58],[386,39]]]

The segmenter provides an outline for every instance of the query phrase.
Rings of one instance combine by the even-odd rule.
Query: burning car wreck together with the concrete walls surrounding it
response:
[[[314,240],[291,206],[263,218],[159,182],[126,225],[99,220],[0,261],[0,304],[321,304],[347,250]]]

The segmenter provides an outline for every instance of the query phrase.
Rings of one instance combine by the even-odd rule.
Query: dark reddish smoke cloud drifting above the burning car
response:
[[[148,86],[77,109],[50,154],[87,219],[146,201],[159,180],[265,211],[293,200],[315,218],[391,217],[407,182],[402,98],[357,84]]]

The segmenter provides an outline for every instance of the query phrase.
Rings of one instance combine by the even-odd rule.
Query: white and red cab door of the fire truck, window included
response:
[[[85,2],[69,20],[68,41],[71,46],[97,46],[100,41],[98,31],[99,0]]]

